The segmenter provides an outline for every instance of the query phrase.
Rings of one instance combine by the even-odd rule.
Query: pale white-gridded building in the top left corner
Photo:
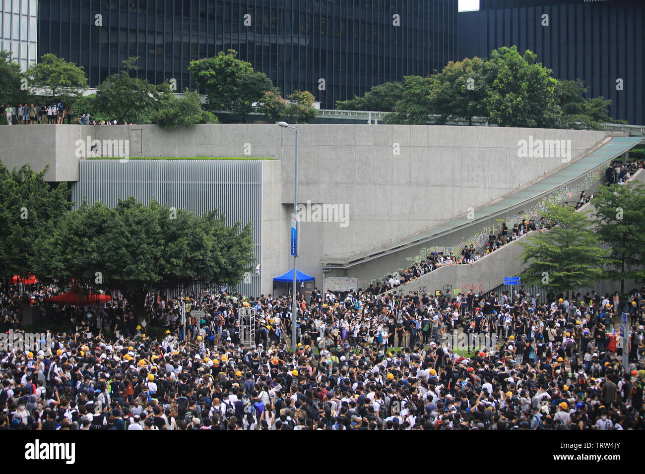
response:
[[[38,33],[38,0],[0,0],[0,50],[24,71],[35,64]]]

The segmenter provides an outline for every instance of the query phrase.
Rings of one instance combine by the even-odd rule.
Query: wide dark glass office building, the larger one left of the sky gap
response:
[[[190,61],[231,48],[283,95],[333,108],[457,59],[457,0],[39,0],[38,39],[39,56],[84,66],[90,86],[140,56],[140,77],[179,91],[194,87]]]

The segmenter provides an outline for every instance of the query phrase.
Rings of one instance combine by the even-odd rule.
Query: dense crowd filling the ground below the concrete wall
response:
[[[20,311],[54,293],[5,291],[3,330],[18,330]],[[0,429],[645,428],[641,291],[539,302],[523,289],[513,301],[314,290],[297,303],[295,354],[288,296],[160,293],[137,316],[119,295],[87,308],[42,305],[63,328],[46,347],[0,351]],[[248,344],[241,307],[256,319]],[[624,312],[626,339],[611,330]],[[454,333],[497,340],[455,348]]]

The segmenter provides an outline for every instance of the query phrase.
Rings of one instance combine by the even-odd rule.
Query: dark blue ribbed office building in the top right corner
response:
[[[611,99],[614,119],[645,124],[645,0],[481,0],[479,8],[459,13],[460,58],[530,49],[554,77],[582,79],[587,97]]]

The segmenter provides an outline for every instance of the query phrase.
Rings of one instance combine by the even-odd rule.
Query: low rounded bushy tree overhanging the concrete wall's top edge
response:
[[[184,97],[178,99],[175,94],[168,92],[152,114],[152,123],[161,128],[177,128],[178,126],[192,127],[196,123],[219,123],[215,115],[202,108],[201,98],[197,92],[186,88]]]

